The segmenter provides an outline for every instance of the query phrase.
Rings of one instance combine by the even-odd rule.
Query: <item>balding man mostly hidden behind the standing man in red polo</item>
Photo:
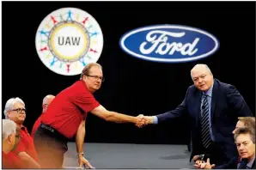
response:
[[[46,95],[46,97],[43,99],[43,104],[42,104],[43,112],[42,112],[42,114],[46,112],[48,106],[50,105],[50,103],[52,102],[52,100],[54,98],[55,98],[55,96],[52,95],[52,94]],[[31,137],[34,138],[34,133],[37,130],[37,128],[40,126],[40,124],[41,124],[41,115],[40,115],[39,118],[37,118],[37,120],[34,123],[33,129],[31,131]]]

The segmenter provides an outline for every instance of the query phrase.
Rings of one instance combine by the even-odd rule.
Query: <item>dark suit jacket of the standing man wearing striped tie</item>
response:
[[[201,134],[200,134],[200,105],[202,92],[194,85],[187,88],[185,99],[176,109],[156,115],[158,123],[172,118],[179,118],[188,115],[192,131],[192,156],[204,154],[202,152]],[[214,79],[211,96],[211,130],[215,137],[216,156],[220,162],[229,161],[237,153],[232,131],[235,130],[235,124],[238,117],[253,116],[237,89],[227,83]]]

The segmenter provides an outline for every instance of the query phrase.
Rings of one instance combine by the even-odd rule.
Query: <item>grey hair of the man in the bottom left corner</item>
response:
[[[4,141],[9,135],[16,133],[16,127],[17,125],[15,124],[14,121],[10,119],[3,119],[2,120],[2,141]]]

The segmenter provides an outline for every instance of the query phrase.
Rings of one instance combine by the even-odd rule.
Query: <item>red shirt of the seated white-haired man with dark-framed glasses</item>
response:
[[[30,137],[27,128],[25,126],[21,126],[21,141],[18,143],[17,148],[14,153],[18,154],[19,152],[26,152],[27,155],[30,155],[34,161],[38,161],[37,153],[34,149],[34,139]]]

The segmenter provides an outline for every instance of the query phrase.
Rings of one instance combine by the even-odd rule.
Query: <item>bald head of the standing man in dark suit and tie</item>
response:
[[[206,64],[196,64],[191,70],[192,81],[196,88],[207,91],[213,84],[213,76]]]

